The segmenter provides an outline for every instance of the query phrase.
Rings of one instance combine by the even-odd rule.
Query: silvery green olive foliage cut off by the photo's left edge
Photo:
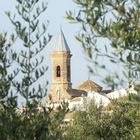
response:
[[[8,40],[9,38],[9,40]],[[16,53],[12,50],[15,37],[12,34],[8,37],[7,33],[0,33],[0,104],[14,107],[16,103],[16,95],[12,92],[12,83],[18,74],[18,69],[10,73],[11,66],[16,59]]]

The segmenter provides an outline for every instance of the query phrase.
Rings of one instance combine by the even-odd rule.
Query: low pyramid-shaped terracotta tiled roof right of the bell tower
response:
[[[84,90],[86,92],[89,92],[89,91],[99,92],[102,90],[102,87],[91,80],[87,80],[83,82],[81,85],[79,85],[77,89]]]

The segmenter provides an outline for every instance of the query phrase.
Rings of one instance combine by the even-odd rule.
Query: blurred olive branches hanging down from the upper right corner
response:
[[[108,70],[101,57],[124,66],[123,75],[128,81],[140,77],[140,1],[139,0],[74,0],[76,12],[67,12],[70,22],[80,23],[76,39],[95,68]],[[102,46],[98,43],[102,41]],[[105,42],[108,42],[107,44]],[[106,60],[107,60],[106,59]],[[105,82],[115,85],[118,71],[106,77]],[[111,84],[111,82],[114,82]],[[118,82],[118,81],[116,81]],[[122,84],[122,83],[120,83]]]

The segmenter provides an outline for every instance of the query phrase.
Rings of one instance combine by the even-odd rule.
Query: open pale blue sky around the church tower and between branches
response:
[[[13,31],[12,25],[4,12],[9,10],[14,12],[14,9],[15,9],[15,0],[2,0],[0,5],[0,21],[1,21],[0,31],[7,31],[7,29],[9,33]],[[48,44],[47,49],[44,52],[46,56],[45,63],[46,65],[49,66],[49,70],[46,74],[45,79],[47,79],[49,83],[51,82],[50,52],[52,51],[55,45],[55,39],[59,33],[61,25],[67,43],[71,49],[71,53],[73,55],[71,60],[71,72],[72,72],[71,75],[73,88],[78,86],[84,80],[88,79],[87,61],[84,58],[82,49],[79,47],[80,44],[74,38],[74,36],[80,30],[80,27],[78,25],[68,23],[68,21],[64,18],[66,10],[74,10],[74,9],[76,9],[76,7],[72,2],[72,0],[48,0],[48,9],[42,17],[42,21],[47,20],[50,21],[48,32],[53,35],[51,42]],[[97,77],[91,76],[91,80],[95,81],[101,86],[103,85],[100,79]]]

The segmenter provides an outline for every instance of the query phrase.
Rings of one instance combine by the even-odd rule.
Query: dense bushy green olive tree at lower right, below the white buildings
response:
[[[76,111],[67,126],[66,140],[138,140],[140,96],[130,95],[112,101],[107,107],[91,102],[85,110]]]

